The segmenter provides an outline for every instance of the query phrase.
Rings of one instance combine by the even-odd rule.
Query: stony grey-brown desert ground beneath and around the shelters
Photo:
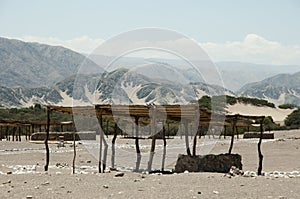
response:
[[[233,153],[242,156],[243,176],[133,172],[134,141],[122,138],[116,142],[119,171],[99,174],[97,144],[80,141],[76,143],[76,174],[71,174],[71,143],[65,143],[65,147],[50,144],[49,171],[44,172],[44,144],[0,141],[0,198],[300,198],[300,130],[274,133],[274,140],[262,143],[263,176],[255,175],[258,139],[241,139],[241,136],[235,139]],[[168,140],[166,169],[174,168],[178,154],[185,152],[183,140],[180,137]],[[214,144],[209,145],[209,140]],[[141,169],[146,168],[150,143],[151,140],[141,140]],[[229,144],[229,137],[201,138],[198,154],[207,148],[208,153],[226,153]],[[153,169],[160,168],[161,145],[158,140]],[[116,177],[120,172],[124,175]]]

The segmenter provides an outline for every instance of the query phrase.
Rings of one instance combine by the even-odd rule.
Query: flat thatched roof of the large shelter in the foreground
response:
[[[138,117],[150,118],[155,114],[157,119],[170,119],[174,121],[199,122],[200,126],[225,125],[250,126],[259,123],[265,116],[229,115],[224,112],[212,112],[201,108],[197,104],[189,105],[95,105],[95,106],[47,106],[49,110],[69,114],[80,114],[90,117]]]

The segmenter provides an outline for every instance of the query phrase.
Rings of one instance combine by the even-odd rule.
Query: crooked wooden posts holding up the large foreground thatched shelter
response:
[[[47,108],[47,128],[46,128],[46,137],[45,137],[45,148],[46,148],[46,164],[45,164],[45,171],[48,170],[48,165],[49,165],[49,146],[48,146],[48,139],[49,139],[49,129],[50,129],[50,113],[51,109],[48,107]],[[150,117],[155,118],[155,113],[150,112]],[[100,125],[100,142],[99,142],[99,162],[98,162],[98,171],[99,173],[104,172],[106,169],[106,162],[107,162],[107,151],[108,151],[108,144],[107,141],[105,140],[104,136],[104,131],[103,131],[103,115],[101,114],[101,111],[97,112],[97,119]],[[134,122],[135,122],[135,148],[136,148],[136,167],[135,170],[139,171],[140,169],[140,163],[141,163],[141,151],[139,147],[139,116],[134,116]],[[155,142],[156,142],[156,136],[155,136],[155,120],[151,120],[151,149],[150,149],[150,156],[149,156],[149,161],[148,161],[148,171],[151,171],[152,167],[152,161],[155,153]],[[184,134],[185,134],[185,143],[186,143],[186,153],[190,156],[196,155],[196,146],[197,146],[197,135],[195,135],[194,140],[193,140],[193,154],[191,153],[190,147],[189,147],[189,136],[188,136],[188,121],[185,120],[183,121],[184,125]],[[232,120],[232,135],[231,135],[231,142],[230,142],[230,147],[228,150],[228,153],[231,154],[232,149],[233,149],[233,143],[234,143],[234,136],[236,134],[237,130],[237,119]],[[112,156],[111,156],[111,163],[112,163],[112,168],[114,168],[114,162],[115,162],[115,141],[117,139],[118,135],[118,127],[117,127],[117,122],[115,123],[115,131],[112,139]],[[74,155],[73,155],[73,173],[75,173],[75,162],[76,162],[76,144],[75,144],[75,133],[76,133],[76,128],[74,126],[74,136],[73,136],[73,150],[74,150]],[[259,166],[258,166],[258,175],[261,175],[262,171],[262,161],[263,161],[263,155],[261,153],[261,143],[262,143],[262,135],[263,135],[263,119],[260,121],[260,139],[258,142],[258,156],[259,156]],[[165,138],[165,128],[163,128],[162,132],[162,139],[163,139],[163,157],[162,157],[162,168],[161,170],[164,170],[164,164],[165,164],[165,158],[166,158],[166,138]],[[103,146],[104,145],[104,146]],[[103,150],[103,153],[102,153]],[[103,155],[103,158],[102,158]]]

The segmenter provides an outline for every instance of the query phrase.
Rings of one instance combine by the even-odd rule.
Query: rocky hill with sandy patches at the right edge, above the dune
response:
[[[279,74],[263,81],[249,83],[238,95],[266,99],[275,104],[300,105],[300,72]]]

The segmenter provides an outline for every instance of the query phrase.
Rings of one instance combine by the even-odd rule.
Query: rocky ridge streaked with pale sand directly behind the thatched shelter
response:
[[[222,94],[233,95],[229,90],[216,85],[154,80],[128,69],[118,69],[102,74],[72,76],[51,88],[0,87],[0,104],[3,107],[31,106],[35,103],[65,106],[73,103],[182,104],[204,95]]]

